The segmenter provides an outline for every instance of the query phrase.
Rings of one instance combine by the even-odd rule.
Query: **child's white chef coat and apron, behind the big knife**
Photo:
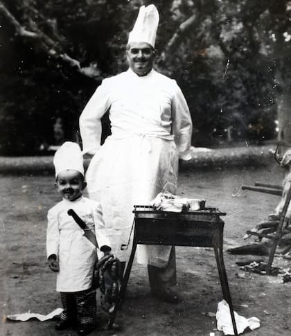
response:
[[[46,254],[58,257],[58,292],[79,292],[91,288],[97,261],[96,247],[85,237],[68,210],[73,209],[95,234],[98,246],[110,246],[105,234],[102,207],[94,200],[80,197],[70,202],[62,200],[48,211]],[[101,255],[103,255],[101,253]]]

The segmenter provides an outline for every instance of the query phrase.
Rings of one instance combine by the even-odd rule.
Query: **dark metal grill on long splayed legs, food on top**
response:
[[[213,247],[222,294],[227,303],[229,303],[233,330],[235,335],[238,335],[222,254],[224,222],[220,219],[220,216],[225,215],[225,213],[215,208],[176,213],[156,211],[152,206],[139,205],[134,206],[133,212],[134,237],[132,252],[121,285],[119,301],[115,306],[114,312],[112,312],[108,327],[112,328],[116,312],[121,308],[137,244]]]

